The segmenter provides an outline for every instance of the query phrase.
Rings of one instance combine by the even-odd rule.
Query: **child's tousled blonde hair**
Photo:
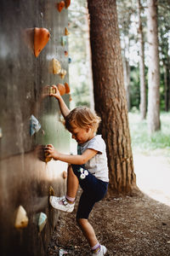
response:
[[[93,128],[94,132],[98,130],[100,117],[87,107],[77,107],[71,110],[71,112],[65,117],[65,128],[68,131],[73,130],[73,125],[86,129],[88,127]]]

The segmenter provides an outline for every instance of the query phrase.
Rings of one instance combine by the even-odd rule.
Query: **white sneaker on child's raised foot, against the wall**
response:
[[[64,211],[64,212],[72,212],[75,207],[75,203],[69,204],[66,201],[65,196],[56,197],[56,196],[49,196],[49,202],[54,209]]]

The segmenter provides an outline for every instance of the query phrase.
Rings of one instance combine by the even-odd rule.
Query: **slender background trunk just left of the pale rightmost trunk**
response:
[[[144,37],[141,20],[141,3],[138,0],[139,8],[139,73],[140,73],[140,116],[146,118],[146,85],[144,79]]]

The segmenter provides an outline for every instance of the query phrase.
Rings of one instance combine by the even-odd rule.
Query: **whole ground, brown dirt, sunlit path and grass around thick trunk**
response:
[[[134,172],[141,194],[107,196],[94,207],[89,221],[106,256],[170,256],[170,121],[161,114],[161,131],[147,135],[147,121],[129,113]],[[81,194],[79,190],[78,198]],[[91,255],[74,212],[60,212],[48,255]],[[60,254],[59,254],[60,253]]]

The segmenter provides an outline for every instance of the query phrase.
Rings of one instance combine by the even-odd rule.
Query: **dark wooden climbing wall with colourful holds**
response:
[[[61,3],[60,3],[61,2]],[[47,255],[59,212],[48,195],[63,195],[65,163],[44,145],[69,153],[50,86],[62,84],[69,105],[70,1],[2,0],[0,8],[0,255]],[[65,5],[65,6],[62,6]]]

